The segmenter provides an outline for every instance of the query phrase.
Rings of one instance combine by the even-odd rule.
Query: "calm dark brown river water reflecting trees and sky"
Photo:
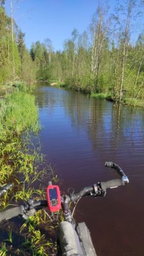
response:
[[[144,255],[144,111],[90,99],[39,83],[42,152],[76,190],[118,175],[104,167],[118,163],[130,184],[108,189],[105,198],[82,198],[76,219],[86,221],[98,256]]]

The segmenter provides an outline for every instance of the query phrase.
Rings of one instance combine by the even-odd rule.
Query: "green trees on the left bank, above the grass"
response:
[[[12,10],[11,10],[12,11]],[[4,10],[4,0],[0,1],[0,83],[9,81],[35,80],[35,63],[24,44],[24,33],[20,31],[12,17]]]

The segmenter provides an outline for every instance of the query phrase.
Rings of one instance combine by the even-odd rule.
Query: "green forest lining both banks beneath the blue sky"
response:
[[[115,13],[99,5],[88,29],[77,29],[64,41],[63,51],[54,51],[49,38],[33,42],[28,51],[24,33],[6,15],[0,1],[0,83],[35,80],[56,81],[80,92],[118,102],[143,106],[144,31],[136,40],[134,29],[143,24],[138,2],[125,1]],[[141,2],[141,4],[143,4]],[[139,21],[138,21],[139,20]]]

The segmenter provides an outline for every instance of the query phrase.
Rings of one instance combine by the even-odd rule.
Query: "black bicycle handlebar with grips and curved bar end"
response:
[[[76,194],[74,193],[71,195],[69,194],[68,196],[61,198],[61,205],[63,203],[68,204],[70,202],[76,203],[77,200],[79,200],[79,198],[81,198],[82,196],[95,197],[95,196],[105,195],[106,189],[116,188],[118,186],[124,186],[125,183],[129,182],[129,179],[127,178],[125,173],[122,171],[120,166],[118,166],[118,164],[115,164],[112,162],[106,162],[105,166],[114,168],[116,172],[120,175],[121,179],[108,180],[106,182],[97,182],[97,184],[94,184],[93,186],[85,187],[81,189],[81,191],[77,192]],[[11,186],[12,184],[8,184],[4,186],[2,189],[0,188],[0,196],[1,196],[1,193],[4,193]],[[8,220],[18,215],[22,215],[23,218],[27,219],[29,216],[33,216],[35,214],[35,211],[38,211],[46,206],[47,206],[47,200],[40,200],[40,201],[34,202],[33,199],[29,199],[27,204],[25,205],[19,205],[12,209],[8,209],[6,211],[0,212],[0,221]]]

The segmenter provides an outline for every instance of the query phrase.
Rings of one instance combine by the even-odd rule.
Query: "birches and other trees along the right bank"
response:
[[[111,17],[99,6],[88,31],[79,35],[74,29],[63,51],[52,51],[51,40],[33,44],[30,54],[37,78],[60,81],[83,92],[105,93],[116,100],[143,99],[143,31],[132,44],[141,13],[136,1],[125,2]]]

